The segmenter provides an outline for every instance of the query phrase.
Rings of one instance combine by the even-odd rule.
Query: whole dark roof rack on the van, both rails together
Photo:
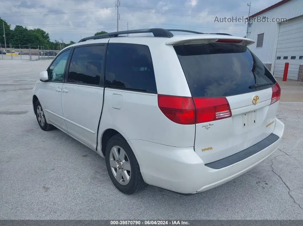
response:
[[[171,38],[174,36],[171,33],[171,31],[181,31],[181,32],[187,32],[187,33],[193,33],[193,34],[205,34],[205,33],[201,33],[198,31],[192,31],[192,30],[151,28],[151,29],[138,29],[138,30],[124,30],[124,31],[116,31],[116,32],[105,33],[105,34],[98,34],[98,35],[82,38],[80,41],[78,41],[78,43],[84,42],[87,40],[92,40],[92,39],[114,38],[114,37],[118,37],[118,35],[122,35],[122,34],[136,34],[136,33],[153,33],[154,37]],[[225,33],[210,33],[210,34],[231,35],[231,34],[225,34]]]

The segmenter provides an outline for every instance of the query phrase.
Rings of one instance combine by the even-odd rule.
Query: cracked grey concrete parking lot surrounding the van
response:
[[[127,196],[101,156],[38,126],[32,88],[49,63],[0,60],[1,219],[303,219],[302,82],[278,81],[282,143],[248,173],[192,196],[154,186]]]

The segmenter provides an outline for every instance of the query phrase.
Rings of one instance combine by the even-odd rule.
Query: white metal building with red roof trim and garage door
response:
[[[289,63],[288,79],[303,81],[303,0],[283,0],[250,18],[287,18],[287,22],[252,22],[246,37],[255,40],[249,46],[278,78]]]

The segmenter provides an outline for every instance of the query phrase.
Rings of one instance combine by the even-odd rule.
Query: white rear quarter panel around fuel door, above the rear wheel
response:
[[[122,95],[121,109],[111,107],[113,94]],[[126,140],[139,139],[175,147],[192,147],[195,125],[170,121],[158,107],[157,94],[105,88],[99,140],[106,129],[115,129]]]

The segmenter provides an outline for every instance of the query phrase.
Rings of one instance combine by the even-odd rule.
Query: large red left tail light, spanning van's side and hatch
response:
[[[177,97],[158,94],[162,113],[178,124],[191,125],[231,117],[226,97]]]

